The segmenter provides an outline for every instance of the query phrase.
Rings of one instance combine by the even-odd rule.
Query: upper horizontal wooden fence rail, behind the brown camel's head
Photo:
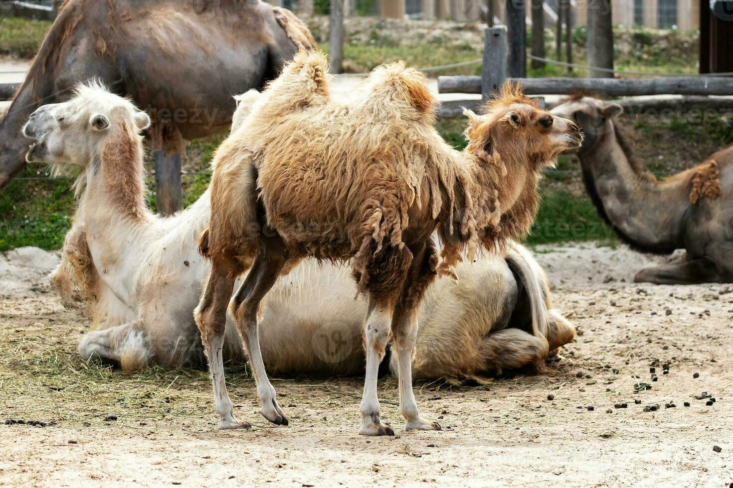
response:
[[[733,95],[733,78],[681,76],[649,79],[512,78],[523,83],[528,95],[570,95],[578,91],[610,97],[645,95]],[[441,76],[440,93],[482,93],[480,76]]]

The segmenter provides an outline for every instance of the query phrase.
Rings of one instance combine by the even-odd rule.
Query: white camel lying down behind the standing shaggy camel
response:
[[[235,124],[254,97],[239,97]],[[29,162],[81,168],[74,225],[51,282],[67,306],[85,307],[92,316],[97,330],[81,340],[81,357],[114,361],[123,369],[203,361],[192,312],[208,271],[196,244],[209,222],[209,194],[174,217],[156,217],[147,209],[139,132],[148,123],[128,100],[91,85],[79,86],[68,102],[39,108],[23,129],[36,141]],[[552,354],[572,342],[575,329],[553,309],[545,275],[523,247],[515,245],[506,258],[464,263],[457,271],[460,282],[441,279],[424,300],[416,378],[479,379],[523,367],[545,371],[548,344]],[[355,299],[348,272],[308,260],[281,277],[262,308],[262,354],[270,371],[363,370],[367,304]],[[548,323],[548,337],[531,334],[533,320]],[[235,324],[228,320],[226,330],[226,356],[243,360]]]

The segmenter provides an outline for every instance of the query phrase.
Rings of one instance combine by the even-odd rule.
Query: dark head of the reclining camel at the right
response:
[[[623,113],[624,109],[616,103],[607,103],[593,97],[572,97],[550,111],[554,116],[570,119],[578,124],[585,135],[583,146],[579,154],[590,151],[600,143],[605,136],[611,134],[614,119]]]

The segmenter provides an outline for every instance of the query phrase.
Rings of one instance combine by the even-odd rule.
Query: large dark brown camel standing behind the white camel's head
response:
[[[41,105],[97,79],[152,117],[156,149],[229,128],[232,94],[261,88],[298,48],[313,48],[289,10],[259,0],[66,0],[0,121],[0,188],[23,168],[21,128]]]

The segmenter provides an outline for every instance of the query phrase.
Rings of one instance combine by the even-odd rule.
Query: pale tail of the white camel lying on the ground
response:
[[[532,315],[532,333],[535,337],[548,338],[550,314],[545,301],[545,279],[542,269],[532,258],[527,249],[514,246],[507,251],[507,263],[522,280],[527,294]],[[549,346],[548,346],[549,347]]]

